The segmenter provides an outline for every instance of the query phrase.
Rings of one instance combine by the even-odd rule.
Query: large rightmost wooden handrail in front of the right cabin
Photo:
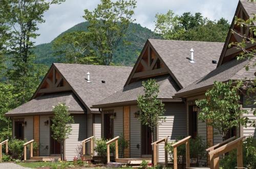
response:
[[[233,140],[224,146],[217,148],[216,150],[210,151],[208,154],[210,156],[210,168],[219,168],[220,155],[225,154],[233,149],[237,149],[237,167],[243,168],[243,139],[245,136]]]

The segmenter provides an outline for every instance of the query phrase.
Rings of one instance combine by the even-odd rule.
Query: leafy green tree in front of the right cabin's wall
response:
[[[247,117],[242,117],[248,112],[240,109],[238,90],[242,84],[240,81],[237,86],[233,86],[231,80],[226,83],[215,81],[212,89],[205,93],[206,99],[196,101],[201,108],[199,119],[217,129],[223,140],[233,127],[238,130],[240,124],[246,126],[248,122]]]

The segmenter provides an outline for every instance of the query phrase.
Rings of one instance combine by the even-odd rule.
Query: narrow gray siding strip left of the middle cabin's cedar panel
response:
[[[116,118],[114,119],[114,136],[119,136],[123,133],[123,107],[116,107]]]

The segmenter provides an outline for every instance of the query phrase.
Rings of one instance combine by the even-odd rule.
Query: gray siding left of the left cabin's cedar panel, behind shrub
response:
[[[34,137],[34,117],[28,116],[24,118],[24,122],[27,122],[27,125],[24,126],[24,139],[27,139],[28,142]],[[27,159],[30,159],[30,151],[27,148]]]

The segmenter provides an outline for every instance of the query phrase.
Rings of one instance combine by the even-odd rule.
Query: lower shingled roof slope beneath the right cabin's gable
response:
[[[248,81],[255,78],[254,73],[256,72],[256,67],[250,67],[248,71],[246,71],[245,66],[251,65],[255,60],[241,60],[238,61],[233,59],[230,62],[224,63],[220,67],[211,71],[209,74],[203,76],[197,81],[193,82],[186,88],[183,88],[179,92],[175,94],[175,98],[186,97],[188,95],[192,95],[198,91],[205,92],[209,89],[214,81],[228,81],[228,80],[241,80],[246,79]]]

